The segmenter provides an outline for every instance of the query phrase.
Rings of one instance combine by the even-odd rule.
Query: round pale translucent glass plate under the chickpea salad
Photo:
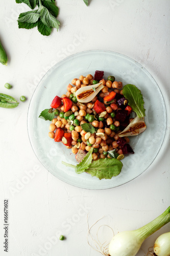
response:
[[[122,172],[112,179],[99,180],[87,173],[76,174],[61,161],[77,164],[75,156],[62,143],[48,137],[50,121],[38,118],[44,109],[49,109],[53,98],[66,93],[66,87],[73,78],[80,75],[94,75],[103,70],[104,78],[114,75],[123,85],[135,84],[144,99],[144,133],[130,138],[135,154],[123,160]],[[30,102],[28,111],[28,134],[33,151],[43,166],[54,176],[74,186],[88,189],[106,189],[125,184],[146,170],[156,158],[163,143],[166,129],[166,108],[160,89],[138,62],[119,53],[91,50],[71,55],[58,62],[39,82]]]

